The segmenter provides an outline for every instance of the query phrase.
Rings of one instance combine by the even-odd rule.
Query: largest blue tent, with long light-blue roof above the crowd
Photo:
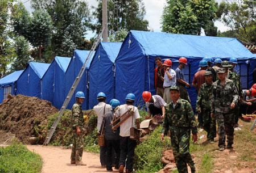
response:
[[[170,58],[174,62],[173,69],[176,69],[177,60],[180,57],[187,58],[188,65],[183,72],[189,83],[192,83],[199,61],[203,57],[222,60],[234,57],[240,63],[238,68],[242,83],[244,82],[243,88],[250,85],[250,73],[248,73],[250,65],[246,61],[251,60],[253,54],[237,39],[130,31],[115,60],[115,97],[121,103],[125,102],[125,96],[129,92],[135,94],[135,104],[143,103],[141,97],[143,91],[151,91],[155,94],[154,59],[156,56],[162,59]],[[195,89],[195,87],[188,88],[193,108],[197,98]]]

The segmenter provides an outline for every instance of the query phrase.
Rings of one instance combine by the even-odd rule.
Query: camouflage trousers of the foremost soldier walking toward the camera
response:
[[[189,138],[190,130],[183,130],[179,135],[175,135],[171,130],[172,152],[179,173],[188,173],[187,164],[192,173],[196,172],[195,163],[189,153]]]

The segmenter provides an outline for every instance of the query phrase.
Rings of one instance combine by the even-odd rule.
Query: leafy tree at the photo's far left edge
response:
[[[11,64],[15,57],[15,49],[11,42],[14,34],[10,17],[13,2],[12,0],[0,1],[0,77],[6,75],[7,65]]]

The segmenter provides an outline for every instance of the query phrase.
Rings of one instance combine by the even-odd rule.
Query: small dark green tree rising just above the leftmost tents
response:
[[[14,48],[16,57],[11,65],[12,72],[25,69],[28,62],[31,60],[30,44],[23,36],[15,38]]]

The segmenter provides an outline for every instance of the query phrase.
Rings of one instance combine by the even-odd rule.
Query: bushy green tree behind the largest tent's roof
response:
[[[217,3],[214,0],[167,0],[162,15],[162,31],[200,35],[201,29],[209,36],[217,35],[214,20],[217,19]]]

